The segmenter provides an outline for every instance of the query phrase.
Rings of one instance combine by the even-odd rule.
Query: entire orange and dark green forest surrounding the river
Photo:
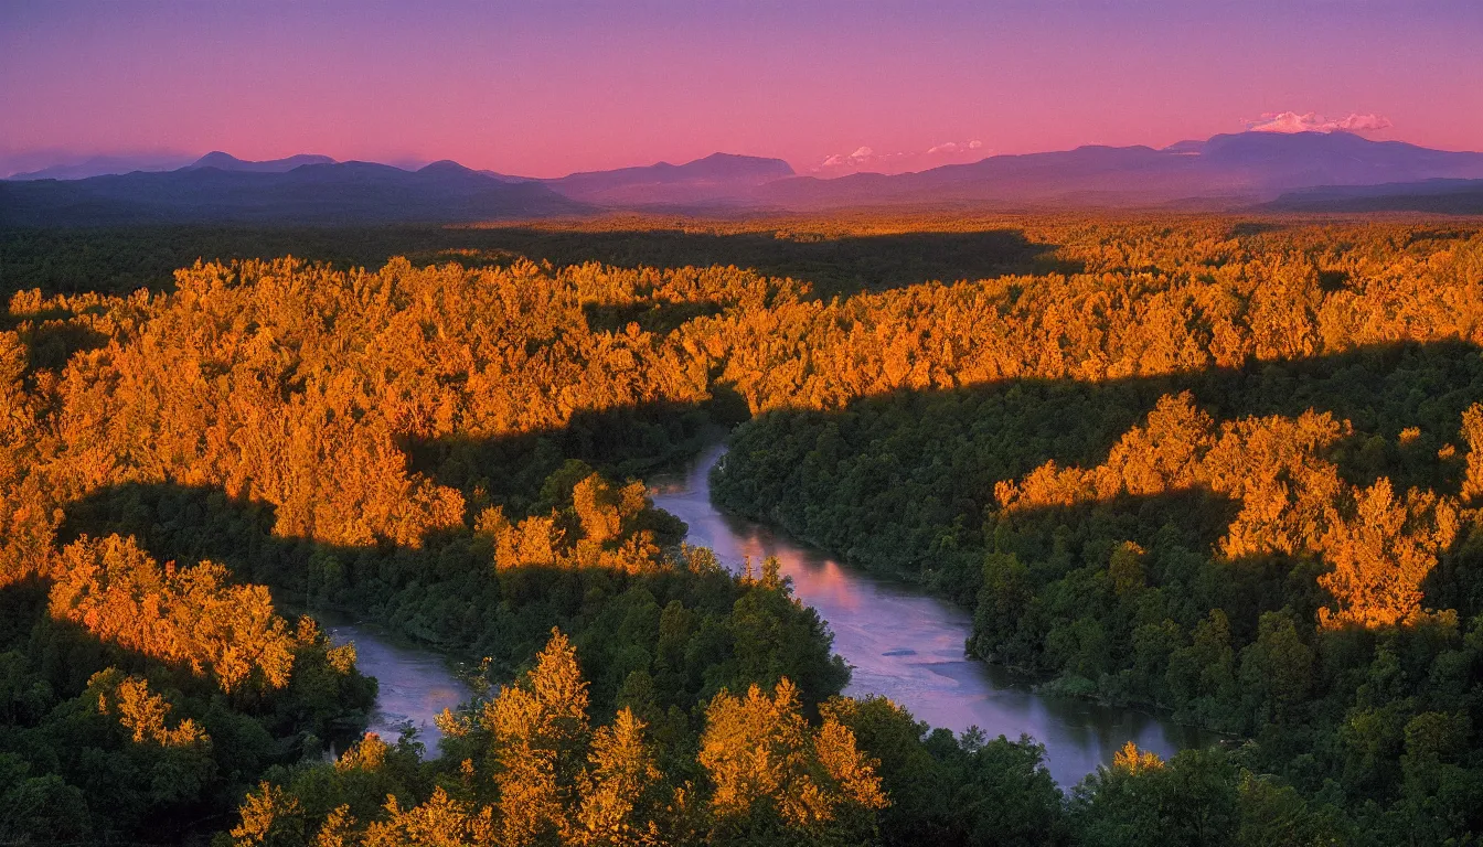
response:
[[[1483,835],[1477,223],[10,230],[0,289],[0,843]],[[722,436],[727,510],[1228,740],[1059,786],[842,696],[650,498]],[[437,749],[331,613],[479,665]]]

